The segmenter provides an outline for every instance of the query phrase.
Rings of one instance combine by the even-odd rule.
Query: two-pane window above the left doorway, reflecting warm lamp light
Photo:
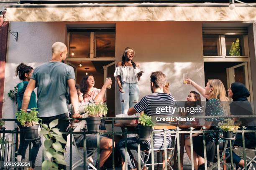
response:
[[[69,30],[69,58],[113,58],[115,29]]]

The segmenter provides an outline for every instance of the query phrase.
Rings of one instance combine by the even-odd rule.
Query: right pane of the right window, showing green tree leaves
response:
[[[244,55],[243,35],[225,35],[226,54],[230,56]]]

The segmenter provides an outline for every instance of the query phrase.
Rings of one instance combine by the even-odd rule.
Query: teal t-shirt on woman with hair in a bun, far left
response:
[[[27,85],[28,85],[28,81],[23,81],[23,82],[20,82],[16,86],[16,87],[18,87],[18,92],[17,92],[18,111],[21,109],[23,95],[24,95]],[[36,93],[34,91],[31,93],[30,101],[28,104],[28,109],[31,109],[33,107],[36,107]]]

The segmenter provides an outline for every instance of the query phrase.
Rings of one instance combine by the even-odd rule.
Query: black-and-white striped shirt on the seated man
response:
[[[134,109],[140,113],[144,111],[149,116],[172,116],[173,112],[164,112],[156,114],[156,107],[175,107],[176,102],[172,94],[167,93],[153,93],[144,96],[136,105]],[[162,131],[163,130],[157,130]],[[154,147],[164,148],[164,133],[154,133]],[[166,133],[166,145],[168,146],[172,142],[171,133]]]

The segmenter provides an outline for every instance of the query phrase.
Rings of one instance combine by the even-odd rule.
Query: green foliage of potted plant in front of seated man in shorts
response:
[[[90,104],[84,108],[84,112],[87,113],[88,117],[101,117],[106,116],[108,113],[108,107],[105,104]]]

